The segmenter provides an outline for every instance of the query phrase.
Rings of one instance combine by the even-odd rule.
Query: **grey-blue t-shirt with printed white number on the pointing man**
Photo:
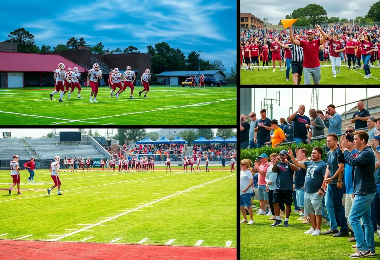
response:
[[[327,164],[322,160],[319,162],[305,161],[305,192],[318,192],[325,179]]]

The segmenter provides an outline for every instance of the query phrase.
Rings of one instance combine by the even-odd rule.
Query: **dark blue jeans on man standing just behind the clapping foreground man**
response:
[[[340,231],[347,233],[347,219],[342,205],[344,193],[344,185],[338,189],[336,184],[329,184],[326,192],[326,209],[330,218],[330,228],[332,230],[338,230],[338,226],[340,226]]]

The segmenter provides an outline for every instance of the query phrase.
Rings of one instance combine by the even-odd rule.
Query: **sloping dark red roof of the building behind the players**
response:
[[[80,73],[87,72],[82,66],[57,54],[0,51],[0,60],[0,71],[53,72],[62,62],[65,68],[78,67]]]

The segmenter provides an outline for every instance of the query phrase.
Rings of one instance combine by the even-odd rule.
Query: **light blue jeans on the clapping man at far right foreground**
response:
[[[348,221],[355,234],[356,244],[358,244],[357,248],[364,252],[368,249],[375,251],[375,238],[371,222],[371,203],[374,198],[375,193],[355,195],[350,216],[348,216]],[[364,226],[364,233],[360,220]]]

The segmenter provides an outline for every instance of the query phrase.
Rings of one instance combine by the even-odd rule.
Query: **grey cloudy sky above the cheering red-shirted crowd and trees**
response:
[[[373,5],[375,0],[293,0],[291,2],[284,2],[282,0],[266,0],[266,1],[250,1],[241,0],[241,13],[252,13],[256,17],[263,19],[267,17],[272,24],[278,24],[280,19],[285,19],[287,14],[291,14],[298,8],[305,7],[310,3],[316,3],[323,6],[327,11],[328,17],[337,17],[353,19],[353,9],[358,10],[357,16],[366,16],[369,8]],[[356,16],[356,12],[355,12]]]

